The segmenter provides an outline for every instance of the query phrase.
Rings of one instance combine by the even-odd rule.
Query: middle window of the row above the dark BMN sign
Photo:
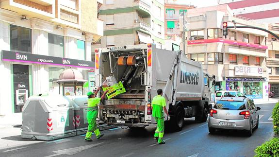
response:
[[[50,34],[49,37],[49,55],[55,57],[64,57],[64,36]]]

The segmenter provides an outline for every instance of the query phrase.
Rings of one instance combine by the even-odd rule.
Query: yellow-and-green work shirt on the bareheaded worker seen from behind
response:
[[[161,95],[153,98],[151,106],[153,107],[152,116],[162,118],[164,117],[163,107],[165,106],[165,99]]]

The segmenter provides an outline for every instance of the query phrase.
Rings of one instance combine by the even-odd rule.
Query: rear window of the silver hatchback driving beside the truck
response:
[[[243,110],[246,109],[244,102],[234,102],[234,101],[218,101],[214,108],[225,109],[225,110]]]

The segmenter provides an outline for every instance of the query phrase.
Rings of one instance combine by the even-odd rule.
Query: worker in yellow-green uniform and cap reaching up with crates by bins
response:
[[[100,139],[104,134],[101,134],[99,129],[97,128],[96,124],[96,118],[98,116],[98,104],[101,100],[105,98],[105,95],[108,91],[105,91],[103,95],[100,98],[96,98],[96,95],[98,94],[98,91],[100,90],[100,87],[93,93],[88,92],[88,105],[87,105],[87,121],[88,121],[88,130],[85,136],[85,141],[92,141],[91,136],[92,132],[94,131],[97,139]]]

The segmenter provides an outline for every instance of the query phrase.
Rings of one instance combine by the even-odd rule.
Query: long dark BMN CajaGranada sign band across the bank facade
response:
[[[52,57],[47,55],[38,55],[30,53],[2,51],[2,60],[10,62],[21,62],[21,63],[33,63],[33,64],[45,64],[54,66],[66,66],[76,68],[94,69],[94,62]]]

